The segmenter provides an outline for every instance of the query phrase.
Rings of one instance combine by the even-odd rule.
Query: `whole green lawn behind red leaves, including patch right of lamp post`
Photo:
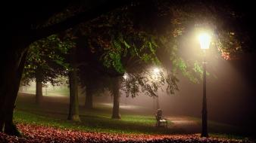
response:
[[[168,128],[155,127],[155,116],[147,108],[134,106],[133,109],[120,108],[121,120],[111,119],[111,104],[95,104],[92,110],[83,107],[84,97],[80,97],[80,123],[67,120],[68,101],[66,97],[45,96],[41,105],[36,105],[35,96],[19,95],[17,108],[14,111],[14,122],[28,123],[42,126],[54,126],[60,129],[82,130],[86,132],[113,132],[125,134],[187,134],[179,126],[173,126],[168,120]],[[145,111],[145,112],[142,112]],[[187,117],[200,123],[200,119]],[[237,133],[239,128],[213,121],[208,122],[209,132],[217,138],[245,138]],[[190,132],[191,133],[191,132]],[[194,132],[195,133],[195,132]],[[198,132],[199,133],[199,132]]]

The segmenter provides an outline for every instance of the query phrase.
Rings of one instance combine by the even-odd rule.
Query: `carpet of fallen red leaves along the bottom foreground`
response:
[[[70,129],[55,129],[48,126],[18,124],[25,137],[6,135],[0,132],[0,142],[253,142],[226,138],[201,138],[192,135],[127,135],[99,132],[81,132]]]

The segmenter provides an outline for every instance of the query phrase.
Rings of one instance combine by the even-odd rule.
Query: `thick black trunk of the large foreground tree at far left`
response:
[[[5,69],[2,71],[0,89],[0,131],[8,135],[21,136],[13,123],[15,101],[20,87],[20,79],[27,58],[27,50],[7,52]],[[3,130],[3,128],[5,129]]]

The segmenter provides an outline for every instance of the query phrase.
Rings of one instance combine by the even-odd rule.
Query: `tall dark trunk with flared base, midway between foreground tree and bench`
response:
[[[73,68],[70,70],[69,82],[70,82],[70,108],[67,120],[73,120],[80,122],[79,117],[79,102],[78,102],[78,83],[77,83],[77,75],[76,75],[76,48],[71,49],[70,51],[70,66]]]

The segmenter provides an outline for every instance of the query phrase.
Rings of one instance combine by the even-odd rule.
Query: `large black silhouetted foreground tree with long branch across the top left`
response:
[[[64,31],[81,21],[92,20],[114,8],[124,5],[127,2],[108,2],[106,5],[98,5],[86,12],[75,14],[73,17],[67,18],[60,23],[52,24],[51,26],[44,26],[37,28],[40,23],[44,23],[49,17],[61,9],[67,8],[69,2],[6,2],[5,8],[13,8],[10,15],[4,17],[6,21],[11,23],[5,24],[6,35],[5,44],[8,48],[3,50],[1,65],[2,69],[0,75],[2,84],[0,85],[0,129],[9,135],[20,135],[16,126],[13,123],[14,103],[17,98],[17,91],[20,85],[20,79],[24,67],[24,62],[27,56],[27,47],[33,41],[48,35]],[[21,5],[23,4],[23,5]],[[101,2],[98,2],[101,4]],[[3,9],[2,9],[3,10]],[[9,10],[8,10],[9,11]],[[30,12],[28,12],[30,11]],[[2,14],[6,14],[2,13]],[[17,23],[19,21],[19,23]],[[35,28],[36,27],[36,28]],[[8,31],[7,31],[8,29]],[[11,29],[11,31],[10,31]]]

